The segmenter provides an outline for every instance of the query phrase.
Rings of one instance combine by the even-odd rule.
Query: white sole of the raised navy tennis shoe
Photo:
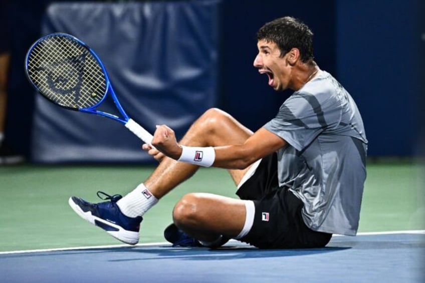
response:
[[[84,212],[80,206],[78,206],[73,200],[72,197],[69,198],[68,200],[69,206],[71,206],[72,210],[74,210],[81,218],[89,221],[91,224],[101,228],[102,230],[106,231],[108,234],[110,234],[111,236],[113,236],[114,238],[126,243],[126,244],[131,244],[134,245],[136,243],[139,242],[139,233],[138,232],[133,232],[133,231],[128,231],[123,229],[121,226],[106,221],[102,218],[99,218],[97,216],[92,215],[92,213],[90,211]],[[113,227],[115,229],[115,231],[108,231],[104,228],[102,228],[102,224],[104,226],[108,226],[108,227]]]

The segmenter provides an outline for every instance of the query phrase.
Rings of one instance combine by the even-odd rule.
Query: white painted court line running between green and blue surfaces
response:
[[[382,232],[361,232],[357,233],[361,235],[389,235],[389,234],[425,234],[425,230],[402,230],[402,231],[382,231]],[[344,235],[333,235],[344,236]],[[230,240],[230,243],[240,243],[238,240]],[[102,248],[114,248],[114,247],[137,247],[137,246],[155,246],[155,245],[170,245],[169,242],[153,242],[153,243],[140,243],[135,245],[128,244],[117,244],[117,245],[94,245],[94,246],[78,246],[78,247],[58,247],[58,248],[44,248],[44,249],[28,249],[28,250],[12,250],[12,251],[0,251],[2,254],[15,254],[15,253],[31,253],[31,252],[46,252],[46,251],[66,251],[66,250],[82,250],[82,249],[102,249]]]

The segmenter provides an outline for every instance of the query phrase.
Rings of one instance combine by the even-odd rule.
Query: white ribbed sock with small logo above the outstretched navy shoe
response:
[[[124,215],[137,217],[143,215],[157,202],[158,199],[141,183],[133,191],[118,200],[117,205]]]

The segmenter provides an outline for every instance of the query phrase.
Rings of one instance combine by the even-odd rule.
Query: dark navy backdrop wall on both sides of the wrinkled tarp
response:
[[[11,12],[19,32],[14,33],[6,135],[27,155],[33,151],[34,93],[24,77],[23,60],[41,34],[41,3],[14,1]],[[423,8],[420,0],[305,0],[293,5],[278,0],[223,1],[217,18],[221,65],[216,104],[253,130],[274,116],[290,92],[275,93],[252,67],[257,52],[254,35],[265,22],[292,15],[312,28],[319,66],[334,74],[356,100],[370,142],[369,156],[412,156],[421,147],[419,129],[424,124]]]

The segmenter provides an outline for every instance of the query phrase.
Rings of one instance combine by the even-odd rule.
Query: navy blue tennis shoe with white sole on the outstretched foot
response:
[[[140,222],[143,220],[142,216],[133,218],[124,215],[116,203],[122,198],[119,194],[111,196],[98,191],[97,195],[103,200],[110,201],[90,203],[82,198],[72,196],[69,198],[68,203],[82,218],[104,229],[118,240],[127,244],[138,243]]]

